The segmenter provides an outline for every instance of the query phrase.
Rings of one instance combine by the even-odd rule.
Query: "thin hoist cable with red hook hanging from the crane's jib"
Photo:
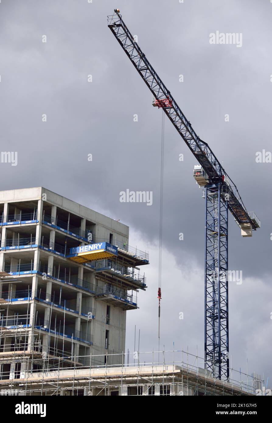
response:
[[[160,180],[160,203],[159,203],[159,323],[161,306],[160,301],[162,298],[162,216],[163,216],[163,175],[164,175],[164,141],[165,141],[165,112],[162,109],[162,143],[161,143],[161,180]]]

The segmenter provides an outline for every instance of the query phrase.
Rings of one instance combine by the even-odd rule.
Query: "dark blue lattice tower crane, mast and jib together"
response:
[[[114,12],[108,16],[108,27],[153,94],[153,106],[162,108],[198,162],[193,176],[206,190],[205,369],[218,379],[228,380],[228,210],[242,236],[252,236],[260,228],[260,221],[255,213],[247,211],[236,185],[209,145],[192,128],[126,27],[119,9]]]

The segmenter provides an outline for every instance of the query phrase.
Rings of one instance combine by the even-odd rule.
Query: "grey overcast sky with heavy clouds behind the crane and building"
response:
[[[157,349],[162,111],[107,27],[115,7],[261,220],[242,238],[229,215],[229,269],[243,276],[229,286],[229,344],[234,367],[248,357],[250,373],[270,378],[272,163],[256,163],[257,151],[272,150],[269,0],[2,0],[1,150],[18,151],[19,162],[0,163],[1,189],[43,186],[129,225],[130,244],[149,250],[151,264],[140,309],[127,313],[127,348],[136,324],[140,350]],[[242,47],[210,44],[217,30],[242,33]],[[205,202],[194,164],[166,121],[161,346],[198,346],[203,356]],[[121,203],[126,189],[152,191],[152,206]]]

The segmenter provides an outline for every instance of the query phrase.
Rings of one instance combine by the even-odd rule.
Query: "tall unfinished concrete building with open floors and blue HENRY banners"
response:
[[[146,289],[128,226],[42,187],[0,192],[0,379],[55,364],[121,364]],[[57,360],[57,361],[56,361]]]

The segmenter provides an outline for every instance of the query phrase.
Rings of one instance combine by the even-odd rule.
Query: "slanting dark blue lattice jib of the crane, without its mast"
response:
[[[190,121],[185,117],[184,113],[182,113],[170,91],[162,82],[157,72],[147,60],[146,55],[142,52],[134,37],[130,33],[129,29],[126,27],[121,14],[117,12],[114,15],[108,16],[108,27],[126,55],[129,57],[129,60],[134,65],[137,72],[148,86],[149,90],[152,92],[154,98],[156,99],[153,105],[162,107],[187,146],[192,151],[192,154],[194,154],[195,159],[206,171],[209,177],[209,183],[215,184],[220,182],[223,185],[225,194],[228,195],[228,209],[234,215],[236,222],[239,225],[250,224],[253,230],[259,228],[260,224],[258,218],[255,214],[254,219],[250,217],[250,213],[245,208],[236,185],[227,175],[208,144],[198,137],[192,128]],[[229,181],[232,182],[232,185],[223,181],[224,176],[228,177]]]

